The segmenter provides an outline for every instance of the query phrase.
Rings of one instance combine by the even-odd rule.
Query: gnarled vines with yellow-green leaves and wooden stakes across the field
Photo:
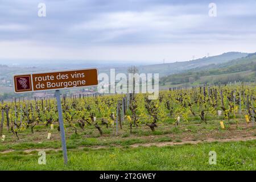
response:
[[[172,121],[177,127],[180,121],[203,122],[210,120],[246,117],[255,121],[254,86],[201,86],[191,89],[168,90],[159,93],[156,100],[148,100],[147,94],[115,94],[95,97],[62,97],[65,127],[75,134],[79,128],[94,126],[103,135],[102,127],[147,126],[156,130],[159,123]],[[0,104],[0,135],[3,127],[19,139],[19,133],[36,125],[49,126],[58,123],[55,99],[2,101]],[[124,123],[128,123],[124,125]],[[59,130],[59,128],[58,128]]]

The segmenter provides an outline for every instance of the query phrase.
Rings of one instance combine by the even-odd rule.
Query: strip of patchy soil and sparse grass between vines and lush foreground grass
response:
[[[168,123],[159,123],[155,133],[145,125],[133,129],[130,134],[129,127],[118,130],[115,134],[115,128],[110,127],[104,130],[102,136],[98,135],[93,127],[86,130],[77,130],[77,135],[71,128],[66,130],[66,139],[68,151],[78,150],[98,150],[112,147],[135,148],[143,147],[163,147],[182,144],[199,144],[212,142],[239,142],[246,140],[256,140],[256,128],[253,123],[246,123],[243,118],[239,119],[238,127],[232,120],[225,122],[225,130],[220,128],[219,121],[210,121],[209,123],[181,123],[179,127]],[[11,152],[22,152],[31,154],[36,151],[61,152],[60,133],[56,130],[49,130],[45,126],[37,126],[34,134],[30,131],[20,133],[20,139],[17,140],[13,134],[5,131],[6,140],[0,141],[0,155],[8,155]],[[51,132],[51,139],[47,139]]]

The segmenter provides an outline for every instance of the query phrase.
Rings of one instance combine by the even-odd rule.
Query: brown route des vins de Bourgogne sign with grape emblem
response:
[[[14,92],[36,92],[98,85],[96,68],[14,75]]]

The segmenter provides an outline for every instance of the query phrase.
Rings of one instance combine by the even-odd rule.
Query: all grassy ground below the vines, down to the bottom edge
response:
[[[56,126],[56,124],[55,124]],[[245,123],[242,117],[238,127],[234,119],[225,121],[225,130],[220,129],[220,119],[207,123],[191,117],[190,122],[180,122],[175,128],[173,122],[159,122],[152,132],[148,126],[129,125],[115,134],[115,127],[101,126],[104,135],[92,127],[77,130],[66,127],[68,166],[63,165],[60,133],[55,127],[49,130],[44,125],[35,126],[19,133],[20,140],[4,128],[6,140],[0,140],[0,170],[255,170],[255,142],[200,143],[197,145],[180,142],[229,139],[255,136],[255,128]],[[38,131],[36,131],[38,130]],[[52,138],[47,139],[48,132]],[[137,147],[144,143],[173,142],[176,146]],[[58,150],[56,150],[58,149]],[[9,151],[11,150],[11,151]],[[25,151],[26,150],[26,151]],[[28,152],[30,150],[30,152]],[[37,150],[37,151],[36,151]],[[38,164],[38,151],[46,150],[47,164]],[[208,164],[208,153],[217,152],[217,165]],[[7,152],[8,151],[8,152]]]

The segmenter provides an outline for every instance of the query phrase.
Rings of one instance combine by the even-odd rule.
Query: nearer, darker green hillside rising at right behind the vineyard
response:
[[[256,53],[246,57],[226,61],[222,64],[209,64],[204,67],[189,69],[179,73],[160,78],[160,83],[166,85],[198,85],[215,82],[255,81]]]

